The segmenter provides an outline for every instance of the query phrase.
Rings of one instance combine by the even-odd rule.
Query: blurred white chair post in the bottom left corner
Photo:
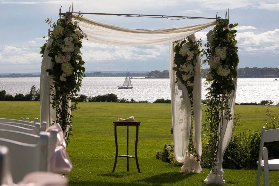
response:
[[[9,149],[0,146],[0,185],[13,185],[9,158]]]

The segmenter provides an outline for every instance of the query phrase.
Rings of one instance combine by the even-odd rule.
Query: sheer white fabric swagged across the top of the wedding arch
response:
[[[146,46],[170,43],[213,25],[216,25],[216,21],[190,26],[146,30],[123,28],[97,22],[86,17],[81,17],[81,22],[78,23],[89,41],[117,46]]]

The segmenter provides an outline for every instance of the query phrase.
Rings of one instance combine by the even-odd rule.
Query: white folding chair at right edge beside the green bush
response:
[[[265,130],[265,127],[262,127],[262,136],[260,143],[260,153],[259,153],[259,161],[258,164],[258,174],[257,174],[257,183],[256,186],[260,185],[260,175],[261,170],[264,170],[264,185],[269,185],[269,170],[279,170],[279,159],[268,159],[267,148],[264,147],[264,143],[266,142],[274,142],[279,141],[279,128]],[[263,159],[263,160],[262,160]]]

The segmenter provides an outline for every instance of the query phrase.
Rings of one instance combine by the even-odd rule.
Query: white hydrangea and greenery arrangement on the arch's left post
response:
[[[53,78],[53,85],[51,90],[51,106],[56,109],[56,121],[60,124],[66,142],[69,142],[69,135],[71,135],[71,114],[70,110],[77,109],[77,102],[70,105],[70,100],[77,96],[80,90],[81,81],[85,75],[83,74],[85,68],[84,61],[81,57],[81,47],[83,38],[87,38],[85,33],[78,27],[80,14],[77,14],[76,19],[71,20],[71,14],[66,13],[63,19],[57,20],[56,23],[47,19],[46,23],[53,28],[48,42],[52,42],[46,48],[46,44],[41,47],[49,51],[52,58],[53,68],[47,69],[47,72]],[[43,56],[42,56],[43,57]]]

